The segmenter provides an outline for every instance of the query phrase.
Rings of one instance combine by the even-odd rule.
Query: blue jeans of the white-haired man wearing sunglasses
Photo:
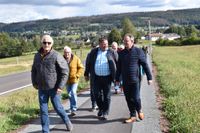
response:
[[[49,98],[54,107],[56,113],[62,118],[63,122],[67,124],[70,120],[66,114],[62,104],[61,104],[61,95],[57,94],[55,89],[41,90],[38,91],[39,103],[40,103],[40,115],[41,115],[41,125],[42,132],[49,133],[49,117],[48,117],[48,102]]]

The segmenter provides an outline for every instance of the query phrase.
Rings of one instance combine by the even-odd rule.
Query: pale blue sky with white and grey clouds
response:
[[[199,7],[200,0],[0,0],[0,22]]]

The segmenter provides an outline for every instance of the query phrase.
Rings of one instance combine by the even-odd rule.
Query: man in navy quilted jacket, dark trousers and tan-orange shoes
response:
[[[130,111],[130,118],[125,123],[136,121],[136,112],[139,119],[144,119],[141,111],[140,99],[140,65],[143,67],[148,84],[152,82],[152,75],[146,62],[143,51],[134,47],[134,37],[131,34],[124,36],[125,49],[119,54],[117,63],[116,84],[119,84],[119,76],[122,74],[124,94]]]

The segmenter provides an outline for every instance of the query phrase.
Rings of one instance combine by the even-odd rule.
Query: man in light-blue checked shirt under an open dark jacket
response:
[[[92,82],[99,108],[98,116],[106,120],[111,100],[111,82],[116,75],[117,52],[108,48],[106,37],[99,39],[99,47],[91,50],[86,60],[85,79]],[[91,76],[91,77],[89,77]]]

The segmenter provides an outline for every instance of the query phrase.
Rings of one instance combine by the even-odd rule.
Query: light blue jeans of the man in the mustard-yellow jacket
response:
[[[70,110],[76,111],[77,110],[77,88],[78,83],[67,85],[67,92],[69,95],[69,101],[70,101]]]

